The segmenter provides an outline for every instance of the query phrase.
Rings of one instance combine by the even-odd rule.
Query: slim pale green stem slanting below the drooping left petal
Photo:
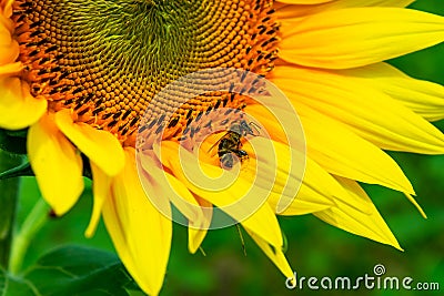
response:
[[[49,205],[43,198],[39,198],[16,235],[9,262],[9,272],[12,275],[17,275],[20,272],[29,244],[48,221],[49,211]]]

